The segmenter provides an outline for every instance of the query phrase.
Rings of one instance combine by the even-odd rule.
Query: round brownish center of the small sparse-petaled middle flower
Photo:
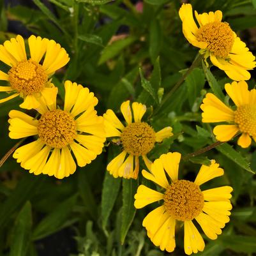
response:
[[[147,123],[131,123],[124,128],[121,142],[127,153],[142,156],[153,149],[156,133]]]

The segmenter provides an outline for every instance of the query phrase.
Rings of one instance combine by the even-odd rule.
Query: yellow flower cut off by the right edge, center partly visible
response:
[[[216,139],[228,141],[241,132],[237,144],[249,147],[252,139],[256,141],[256,90],[248,90],[245,81],[225,84],[225,90],[236,104],[232,110],[221,102],[213,93],[207,93],[200,108],[203,110],[203,123],[229,122],[220,124],[213,129]]]

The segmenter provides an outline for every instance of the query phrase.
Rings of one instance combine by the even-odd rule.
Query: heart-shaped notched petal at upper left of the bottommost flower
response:
[[[163,188],[167,188],[167,186],[169,186],[169,183],[165,176],[165,171],[163,169],[163,163],[160,159],[156,159],[154,160],[154,163],[152,163],[151,173],[147,172],[146,170],[142,170],[142,175],[146,179],[153,181],[154,183],[162,186]]]

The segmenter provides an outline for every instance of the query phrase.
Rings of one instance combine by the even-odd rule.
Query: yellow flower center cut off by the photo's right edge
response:
[[[235,111],[235,123],[239,130],[249,135],[256,135],[256,105],[243,105]]]

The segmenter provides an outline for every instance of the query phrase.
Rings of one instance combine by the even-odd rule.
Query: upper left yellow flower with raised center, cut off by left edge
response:
[[[0,100],[0,103],[21,96],[24,102],[20,107],[36,109],[41,102],[54,102],[55,88],[49,78],[56,70],[66,65],[70,58],[66,50],[54,40],[32,35],[28,43],[29,59],[24,39],[20,35],[0,45],[0,61],[11,67],[8,73],[0,70],[0,80],[9,82],[8,86],[0,86],[0,91],[13,93]]]

